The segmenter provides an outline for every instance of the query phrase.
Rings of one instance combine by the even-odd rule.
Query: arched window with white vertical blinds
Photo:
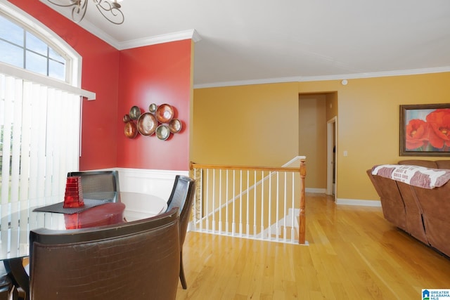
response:
[[[56,202],[79,166],[81,57],[49,28],[0,2],[0,214]],[[44,75],[44,76],[42,76]]]

